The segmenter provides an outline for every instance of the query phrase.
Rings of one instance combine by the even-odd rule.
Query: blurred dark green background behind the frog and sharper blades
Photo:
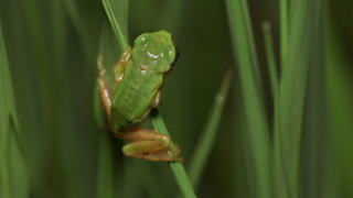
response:
[[[269,129],[274,129],[274,98],[261,24],[271,22],[279,64],[279,1],[247,2],[265,96],[264,116]],[[308,77],[302,77],[307,81],[298,150],[298,193],[289,193],[288,197],[353,197],[353,15],[350,10],[353,3],[309,2],[320,7],[315,23],[319,34],[318,42],[308,50],[311,52]],[[130,1],[129,43],[141,32],[165,30],[173,34],[180,58],[172,75],[165,78],[159,110],[173,141],[181,147],[186,167],[218,86],[227,68],[234,68],[215,144],[195,189],[197,197],[281,197],[276,193],[279,188],[276,182],[270,185],[276,175],[272,168],[265,170],[269,193],[254,193],[256,186],[261,186],[252,178],[257,175],[254,163],[261,164],[247,154],[257,145],[248,142],[244,130],[249,122],[240,113],[244,87],[239,80],[239,56],[232,46],[228,6],[225,1]],[[23,158],[10,163],[11,173],[18,173],[10,174],[8,185],[14,191],[13,197],[179,195],[167,163],[122,156],[124,142],[97,124],[94,91],[104,14],[98,0],[0,0],[1,28],[20,125],[17,154],[23,153]],[[114,40],[110,44],[118,45]],[[111,59],[118,61],[120,53]],[[268,130],[266,135],[271,151],[274,132]],[[269,153],[264,156],[270,161],[264,167],[275,167],[274,156]],[[4,186],[2,180],[0,197]]]

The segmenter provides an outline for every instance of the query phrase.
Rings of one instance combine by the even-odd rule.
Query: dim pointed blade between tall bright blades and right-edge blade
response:
[[[322,186],[331,169],[327,168],[324,161],[331,157],[328,152],[328,120],[324,80],[324,42],[322,15],[319,19],[318,33],[313,37],[312,54],[309,61],[306,105],[303,112],[303,127],[300,146],[299,184],[306,186],[300,197],[323,197]],[[304,151],[304,152],[303,152]],[[329,157],[330,156],[330,157]],[[334,184],[332,183],[332,187]]]

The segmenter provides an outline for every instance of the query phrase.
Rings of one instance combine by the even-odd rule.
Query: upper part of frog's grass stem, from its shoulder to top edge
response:
[[[111,0],[111,1],[113,1],[113,0]],[[116,0],[116,1],[118,1],[118,0]],[[120,0],[120,1],[122,1],[122,0]],[[105,9],[105,11],[106,11],[106,14],[107,14],[107,16],[108,16],[108,19],[109,19],[109,21],[110,21],[110,24],[111,24],[111,26],[113,26],[113,30],[114,30],[114,32],[116,33],[117,37],[118,37],[118,42],[119,42],[121,48],[124,50],[124,48],[126,48],[126,47],[129,45],[129,44],[127,43],[127,40],[126,40],[127,34],[126,34],[126,36],[124,35],[125,32],[127,33],[127,30],[126,30],[126,29],[127,29],[127,25],[125,25],[125,28],[126,28],[126,29],[124,29],[125,31],[121,30],[121,26],[127,23],[127,19],[125,19],[126,23],[124,23],[124,24],[120,26],[119,23],[118,23],[118,20],[117,20],[117,18],[116,18],[116,15],[115,15],[115,14],[120,13],[120,12],[114,12],[114,10],[115,10],[115,9],[119,9],[119,11],[124,12],[124,10],[128,10],[128,9],[126,8],[127,6],[122,6],[122,7],[120,7],[120,8],[115,8],[115,9],[113,9],[113,7],[110,6],[110,1],[109,1],[109,0],[103,0],[101,2],[103,2],[103,6],[104,6],[104,9]],[[115,2],[115,1],[113,1],[113,2]],[[126,2],[127,2],[127,1],[126,1]]]

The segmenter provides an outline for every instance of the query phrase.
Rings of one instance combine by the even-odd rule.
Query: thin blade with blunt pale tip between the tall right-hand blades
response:
[[[264,31],[266,55],[267,55],[267,65],[269,69],[269,79],[270,79],[271,89],[272,89],[272,98],[274,98],[274,101],[277,102],[278,73],[277,73],[276,57],[274,52],[271,23],[270,22],[263,23],[263,31]]]

